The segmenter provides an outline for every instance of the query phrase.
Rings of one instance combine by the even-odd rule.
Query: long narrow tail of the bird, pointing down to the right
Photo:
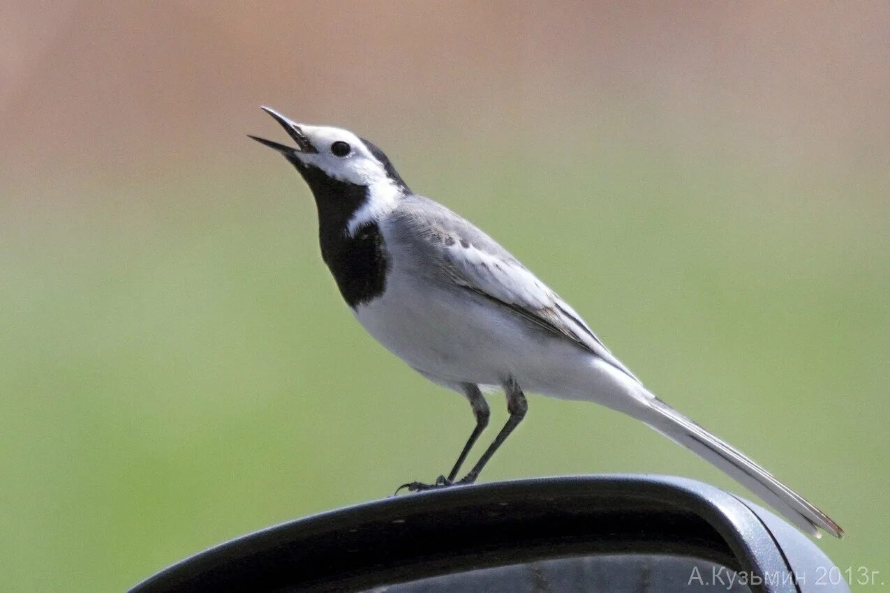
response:
[[[840,525],[748,459],[747,455],[701,428],[659,398],[646,399],[646,405],[635,414],[640,420],[724,471],[780,511],[805,533],[821,537],[821,527],[837,538],[843,536],[844,530]]]

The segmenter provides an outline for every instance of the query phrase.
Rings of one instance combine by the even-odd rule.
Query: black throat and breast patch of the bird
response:
[[[368,199],[368,188],[328,177],[319,168],[288,158],[312,189],[319,211],[321,259],[352,309],[384,292],[390,263],[384,237],[376,223],[363,225],[354,236],[346,232],[352,215]]]

